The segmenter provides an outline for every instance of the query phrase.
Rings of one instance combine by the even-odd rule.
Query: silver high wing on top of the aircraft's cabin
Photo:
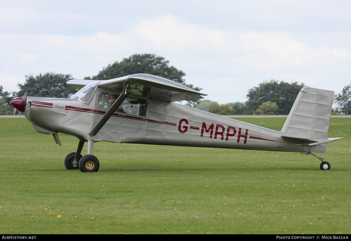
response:
[[[67,85],[81,89],[85,85],[95,81],[72,79],[67,81]],[[200,93],[177,82],[151,74],[131,74],[116,79],[100,80],[97,85],[107,91],[120,93],[125,91],[127,85],[130,85],[128,89],[130,95],[168,102],[196,100],[206,96],[204,93]]]

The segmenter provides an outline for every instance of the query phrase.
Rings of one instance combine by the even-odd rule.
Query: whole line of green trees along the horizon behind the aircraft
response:
[[[116,61],[104,67],[97,75],[85,79],[113,79],[134,73],[147,73],[173,80],[183,84],[185,73],[168,65],[169,61],[155,54],[134,54],[122,61]],[[76,89],[66,85],[74,79],[71,74],[44,73],[33,76],[26,75],[24,84],[18,84],[18,92],[7,92],[0,85],[0,115],[13,115],[11,100],[24,96],[69,98]],[[200,91],[200,87],[192,84],[186,86]],[[277,80],[265,80],[247,93],[247,101],[218,104],[211,100],[194,100],[186,105],[196,109],[208,111],[218,115],[287,115],[304,84],[286,83]],[[351,115],[351,84],[344,87],[342,93],[334,98],[337,108],[333,109],[336,115]]]

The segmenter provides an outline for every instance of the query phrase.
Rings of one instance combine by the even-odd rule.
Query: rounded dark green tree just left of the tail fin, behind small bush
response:
[[[300,92],[305,87],[304,84],[285,83],[277,80],[264,81],[258,87],[253,87],[249,90],[247,97],[249,100],[246,102],[246,110],[253,113],[264,102],[276,102],[278,105],[278,115],[288,115],[294,101]]]

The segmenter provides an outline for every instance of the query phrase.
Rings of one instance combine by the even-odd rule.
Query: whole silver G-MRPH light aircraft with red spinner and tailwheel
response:
[[[334,92],[304,87],[281,131],[240,122],[176,103],[205,94],[150,74],[132,74],[110,80],[69,80],[80,89],[69,99],[19,97],[12,105],[24,112],[37,132],[58,132],[79,139],[76,152],[65,158],[67,169],[99,170],[94,142],[199,146],[248,150],[325,152]],[[88,154],[81,155],[85,142]],[[312,154],[313,156],[316,156]],[[320,169],[330,164],[316,156]]]

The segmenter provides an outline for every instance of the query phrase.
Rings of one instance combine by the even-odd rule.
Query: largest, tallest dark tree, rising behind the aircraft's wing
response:
[[[177,70],[174,66],[168,66],[169,61],[164,57],[156,56],[155,54],[134,54],[128,58],[123,58],[122,61],[116,61],[104,67],[96,76],[85,77],[85,79],[114,79],[118,77],[127,76],[130,74],[153,74],[155,76],[170,79],[174,82],[183,84],[185,73]],[[194,90],[200,91],[201,88],[194,87],[191,84],[185,85]],[[193,106],[200,100],[188,101],[188,106]]]

